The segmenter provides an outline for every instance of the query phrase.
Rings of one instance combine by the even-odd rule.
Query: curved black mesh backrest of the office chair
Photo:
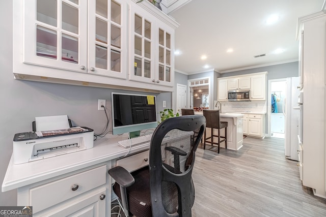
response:
[[[203,115],[179,116],[166,119],[154,131],[149,153],[153,216],[192,215],[192,171],[205,125]],[[199,133],[192,142],[194,131]]]

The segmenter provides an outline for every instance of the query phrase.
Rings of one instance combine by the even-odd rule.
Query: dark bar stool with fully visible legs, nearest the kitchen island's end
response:
[[[225,142],[225,148],[227,148],[227,129],[228,122],[220,121],[220,110],[203,110],[203,114],[206,118],[206,128],[210,128],[211,136],[206,138],[206,130],[204,133],[204,149],[206,146],[206,142],[210,143],[212,146],[218,145],[218,153],[220,153],[220,143]],[[221,136],[220,130],[225,128],[225,135]],[[213,134],[213,129],[218,129],[219,135]],[[218,142],[214,142],[213,138],[218,137]],[[223,138],[221,140],[221,138]]]

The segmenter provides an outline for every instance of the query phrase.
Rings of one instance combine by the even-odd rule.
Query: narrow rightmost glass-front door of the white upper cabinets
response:
[[[174,29],[162,24],[156,24],[156,63],[155,78],[156,83],[173,86],[174,82]],[[172,38],[173,37],[173,38]]]

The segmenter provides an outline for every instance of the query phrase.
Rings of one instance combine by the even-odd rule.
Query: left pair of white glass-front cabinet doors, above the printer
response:
[[[23,63],[126,79],[125,1],[24,2]]]

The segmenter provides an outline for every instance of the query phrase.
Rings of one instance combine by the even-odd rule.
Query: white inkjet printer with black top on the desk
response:
[[[66,125],[63,126],[66,127]],[[60,128],[60,125],[56,126],[56,130],[15,134],[13,163],[22,164],[93,148],[94,131],[92,129],[69,127],[69,125],[65,129],[58,129],[58,127]]]

